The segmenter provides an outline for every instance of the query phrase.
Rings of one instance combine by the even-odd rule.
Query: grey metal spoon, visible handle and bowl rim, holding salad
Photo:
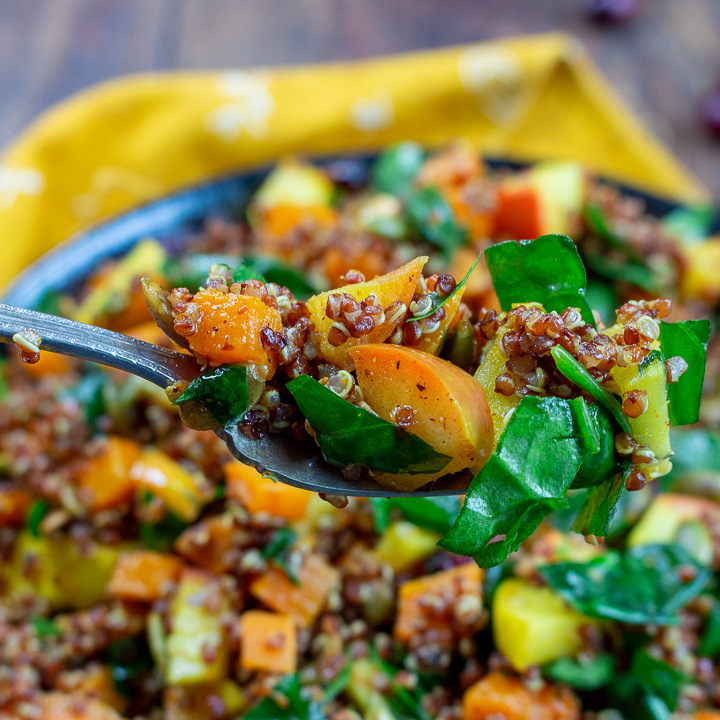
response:
[[[161,318],[156,320],[161,324]],[[0,342],[11,343],[13,335],[29,329],[40,335],[43,350],[124,370],[162,388],[199,374],[191,355],[93,325],[0,303]],[[325,462],[314,443],[298,442],[288,435],[251,440],[237,427],[215,433],[238,460],[253,465],[264,475],[326,495],[423,497],[457,495],[467,489],[466,483],[448,476],[411,493],[398,492],[379,485],[367,474],[360,480],[346,479],[338,468]]]

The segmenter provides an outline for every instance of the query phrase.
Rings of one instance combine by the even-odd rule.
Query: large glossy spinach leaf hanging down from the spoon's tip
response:
[[[571,409],[577,402],[584,401],[522,399],[440,547],[492,567],[515,552],[546,515],[567,507],[565,493],[586,454]]]

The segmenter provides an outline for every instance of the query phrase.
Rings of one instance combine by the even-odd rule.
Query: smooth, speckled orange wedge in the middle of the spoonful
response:
[[[384,343],[350,350],[365,402],[383,419],[399,408],[415,411],[406,429],[452,458],[440,472],[378,476],[378,482],[411,491],[447,473],[476,473],[492,453],[493,423],[485,391],[472,375],[415,348]]]

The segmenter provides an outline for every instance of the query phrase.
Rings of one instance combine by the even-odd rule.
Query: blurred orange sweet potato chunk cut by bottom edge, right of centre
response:
[[[518,677],[491,672],[463,696],[463,720],[579,720],[580,704],[566,686],[528,690]]]

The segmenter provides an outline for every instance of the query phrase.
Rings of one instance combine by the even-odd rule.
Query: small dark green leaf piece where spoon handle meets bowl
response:
[[[202,400],[213,417],[224,427],[237,425],[248,411],[247,368],[244,365],[221,365],[207,370],[187,386],[173,403]]]

